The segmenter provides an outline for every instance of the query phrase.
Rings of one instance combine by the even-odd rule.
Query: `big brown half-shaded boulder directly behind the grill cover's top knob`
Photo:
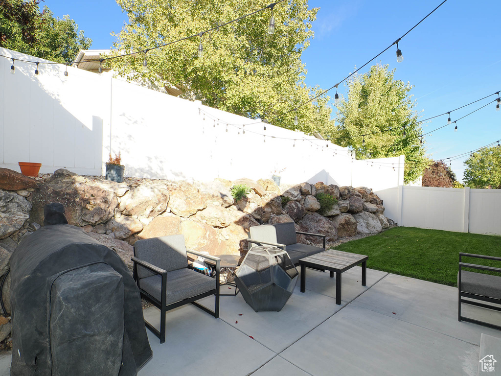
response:
[[[115,215],[118,200],[113,191],[92,183],[84,176],[64,168],[56,170],[49,180],[32,193],[31,223],[44,223],[44,206],[61,203],[70,225],[83,227],[104,223]]]

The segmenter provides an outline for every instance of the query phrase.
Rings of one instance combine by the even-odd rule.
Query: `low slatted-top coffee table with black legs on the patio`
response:
[[[330,277],[336,273],[336,304],[341,304],[341,273],[362,263],[362,286],[367,285],[367,260],[369,256],[357,255],[330,249],[299,260],[301,265],[301,292],[306,291],[306,267],[325,269],[330,272]]]

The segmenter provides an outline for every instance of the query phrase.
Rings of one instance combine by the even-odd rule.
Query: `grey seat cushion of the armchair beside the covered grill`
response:
[[[162,277],[154,275],[139,280],[141,287],[161,301]],[[214,290],[216,280],[191,269],[178,269],[167,273],[167,305]]]

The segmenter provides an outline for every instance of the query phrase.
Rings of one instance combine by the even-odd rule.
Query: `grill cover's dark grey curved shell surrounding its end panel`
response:
[[[12,376],[51,375],[53,359],[50,347],[52,282],[72,270],[91,264],[106,264],[121,275],[124,289],[123,365],[119,376],[135,375],[152,357],[146,336],[139,290],[128,268],[111,249],[70,225],[46,226],[27,236],[11,257],[11,307],[13,357]],[[90,297],[87,309],[101,304],[103,296]],[[109,319],[113,319],[110,317]],[[75,339],[81,335],[74,327]],[[97,347],[75,350],[82,357]],[[70,374],[86,374],[73,369]]]

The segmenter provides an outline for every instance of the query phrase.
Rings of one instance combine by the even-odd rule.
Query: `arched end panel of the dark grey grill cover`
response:
[[[89,301],[95,304],[89,307]],[[51,292],[52,376],[76,370],[118,375],[124,322],[117,317],[123,315],[123,278],[109,265],[92,264],[56,278]],[[77,337],[76,332],[85,335]]]

